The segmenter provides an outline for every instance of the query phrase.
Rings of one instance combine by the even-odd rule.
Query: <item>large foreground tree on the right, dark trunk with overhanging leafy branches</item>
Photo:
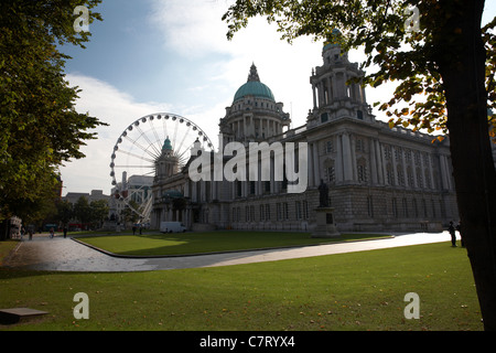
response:
[[[291,42],[302,35],[364,47],[374,87],[399,82],[379,109],[398,124],[449,135],[460,218],[485,330],[496,330],[496,18],[482,28],[484,0],[237,0],[227,36],[263,15]],[[411,23],[417,20],[419,26]],[[334,31],[338,29],[339,32]],[[424,99],[419,98],[419,96]],[[399,105],[403,105],[400,108]]]

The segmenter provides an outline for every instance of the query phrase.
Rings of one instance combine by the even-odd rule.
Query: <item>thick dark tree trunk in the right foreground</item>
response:
[[[441,1],[445,2],[445,1]],[[453,17],[434,36],[443,79],[448,129],[463,239],[484,329],[496,330],[496,171],[487,122],[483,0],[449,1]],[[455,33],[455,35],[453,35]]]

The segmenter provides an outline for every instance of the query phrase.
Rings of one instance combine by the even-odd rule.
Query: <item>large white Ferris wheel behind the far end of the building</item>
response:
[[[162,154],[166,139],[179,161],[179,170],[190,160],[191,149],[196,141],[205,150],[214,148],[197,125],[169,113],[148,115],[136,120],[114,146],[110,162],[112,196],[125,202],[139,216],[140,223],[150,222],[155,161]],[[121,178],[120,182],[118,178]]]

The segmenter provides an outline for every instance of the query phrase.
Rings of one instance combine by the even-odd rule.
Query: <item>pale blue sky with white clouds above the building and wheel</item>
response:
[[[170,113],[192,120],[217,143],[218,122],[246,83],[251,63],[276,100],[284,104],[292,127],[305,124],[312,108],[310,76],[322,65],[322,42],[280,40],[274,25],[254,19],[227,41],[220,20],[233,0],[104,0],[97,11],[103,22],[89,25],[86,50],[63,46],[73,58],[66,78],[83,92],[80,113],[109,124],[97,129],[85,159],[61,168],[67,192],[104,190],[110,194],[110,156],[117,139],[137,119]],[[496,1],[486,1],[487,19]],[[349,53],[362,62],[359,51]],[[391,88],[366,88],[367,101],[389,99]],[[377,119],[387,120],[375,111]]]

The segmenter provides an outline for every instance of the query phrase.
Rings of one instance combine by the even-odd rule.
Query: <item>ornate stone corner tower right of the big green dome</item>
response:
[[[322,50],[324,64],[312,69],[313,109],[308,117],[309,126],[344,117],[365,121],[375,119],[360,85],[365,73],[357,63],[349,62],[347,52],[342,52],[339,35],[338,30],[333,31],[335,40],[325,43]]]

